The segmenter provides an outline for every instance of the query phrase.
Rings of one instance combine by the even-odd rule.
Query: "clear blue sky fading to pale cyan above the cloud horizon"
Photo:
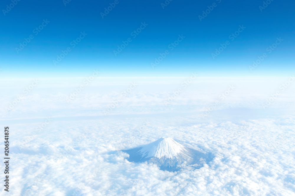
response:
[[[0,72],[6,77],[85,76],[93,69],[101,76],[287,76],[294,74],[295,14],[294,1],[273,0],[261,12],[263,1],[178,1],[163,9],[156,1],[118,0],[104,19],[101,12],[113,3],[109,1],[72,0],[66,6],[62,0],[18,1],[8,12],[1,11]],[[9,0],[1,1],[6,10]],[[207,6],[217,6],[202,21],[199,15]],[[47,19],[50,23],[35,35],[32,30]],[[130,33],[148,26],[136,38]],[[229,35],[246,29],[234,41]],[[56,66],[53,60],[71,47],[80,32],[87,36]],[[34,39],[17,53],[16,47],[30,35]],[[159,53],[169,50],[179,34],[186,38],[154,69]],[[117,56],[114,50],[122,41],[132,42]],[[275,43],[284,41],[268,54],[252,72],[249,66]],[[220,44],[230,45],[215,59],[212,53]]]

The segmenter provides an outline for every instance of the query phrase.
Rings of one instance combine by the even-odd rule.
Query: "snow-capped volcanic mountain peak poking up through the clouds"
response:
[[[167,171],[178,171],[185,166],[198,169],[208,163],[210,157],[201,149],[187,148],[169,137],[122,151],[130,155],[128,161],[155,163],[161,170]]]

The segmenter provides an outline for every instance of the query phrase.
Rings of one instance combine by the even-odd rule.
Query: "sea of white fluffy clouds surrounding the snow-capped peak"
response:
[[[295,82],[189,78],[0,80],[9,195],[295,195]],[[168,172],[120,151],[161,137],[213,160]]]

